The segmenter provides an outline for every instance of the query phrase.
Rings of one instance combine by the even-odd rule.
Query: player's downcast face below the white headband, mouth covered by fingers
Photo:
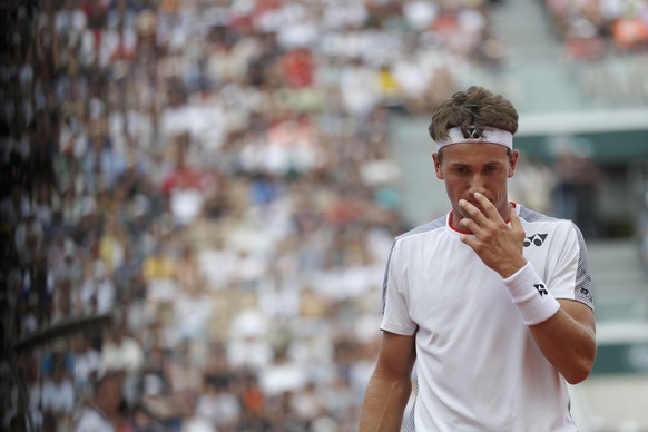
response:
[[[459,206],[465,199],[478,208],[481,206],[473,194],[483,194],[504,220],[509,218],[509,198],[507,183],[513,176],[519,151],[509,156],[508,149],[499,144],[461,143],[444,147],[442,155],[434,153],[436,178],[445,181],[445,190],[452,204],[452,225],[459,227],[459,220],[467,217]]]

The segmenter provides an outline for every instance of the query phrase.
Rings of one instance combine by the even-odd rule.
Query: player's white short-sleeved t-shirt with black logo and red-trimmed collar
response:
[[[524,256],[552,295],[593,308],[578,228],[516,210]],[[451,217],[397,237],[385,273],[381,328],[416,338],[410,423],[426,432],[576,431],[564,379],[540,352],[502,277],[460,240]]]

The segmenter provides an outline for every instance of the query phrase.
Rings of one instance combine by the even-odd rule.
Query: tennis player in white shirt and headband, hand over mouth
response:
[[[577,431],[567,384],[596,354],[587,249],[572,222],[509,200],[517,130],[481,87],[432,115],[451,208],[394,240],[362,432]]]

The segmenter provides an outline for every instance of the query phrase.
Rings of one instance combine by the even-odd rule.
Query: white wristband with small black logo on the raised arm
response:
[[[504,285],[526,325],[547,321],[560,308],[560,303],[549,293],[531,263],[507,277]]]

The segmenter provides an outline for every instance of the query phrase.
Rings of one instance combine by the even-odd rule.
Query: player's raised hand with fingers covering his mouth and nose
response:
[[[527,264],[522,255],[524,243],[522,223],[514,207],[511,206],[511,225],[509,226],[484,195],[475,193],[474,198],[483,212],[465,199],[459,202],[464,214],[468,215],[459,223],[474,234],[474,236],[464,235],[461,240],[470,246],[487,266],[507,278]]]

